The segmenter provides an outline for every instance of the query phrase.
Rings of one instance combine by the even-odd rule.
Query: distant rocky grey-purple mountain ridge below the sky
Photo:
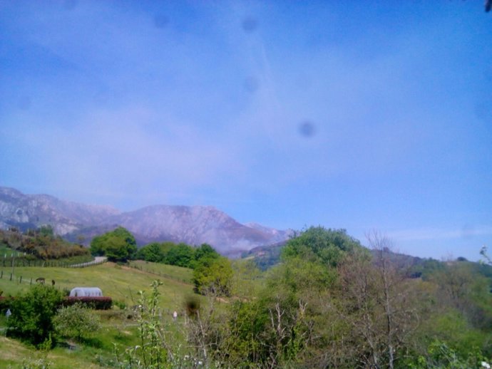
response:
[[[292,231],[256,223],[241,224],[215,207],[153,205],[132,212],[101,205],[69,202],[46,194],[23,194],[0,187],[0,228],[37,228],[51,224],[56,234],[90,242],[118,225],[132,232],[140,245],[150,241],[208,243],[229,256],[256,246],[285,241]]]

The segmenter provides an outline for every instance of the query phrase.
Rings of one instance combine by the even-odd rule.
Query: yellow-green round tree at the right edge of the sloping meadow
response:
[[[200,259],[193,271],[195,290],[204,295],[230,296],[232,266],[224,257]]]

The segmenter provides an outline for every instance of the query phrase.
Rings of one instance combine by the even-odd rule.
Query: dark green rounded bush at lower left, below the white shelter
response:
[[[11,302],[9,334],[39,345],[54,331],[53,317],[62,301],[61,292],[51,286],[32,286]]]

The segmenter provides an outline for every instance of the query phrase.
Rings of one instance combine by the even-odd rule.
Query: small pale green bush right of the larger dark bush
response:
[[[59,309],[53,318],[53,324],[61,336],[78,342],[93,336],[101,326],[99,317],[80,303]]]

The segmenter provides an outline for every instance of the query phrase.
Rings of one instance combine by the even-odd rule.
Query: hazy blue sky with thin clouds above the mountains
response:
[[[0,0],[0,185],[492,246],[482,1]]]

